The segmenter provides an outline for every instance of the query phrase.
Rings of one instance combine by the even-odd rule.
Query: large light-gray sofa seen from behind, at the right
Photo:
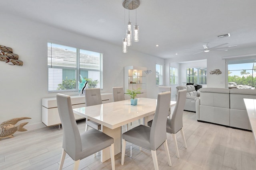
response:
[[[251,130],[243,99],[256,99],[256,90],[201,88],[199,91],[200,99],[196,99],[198,121]]]

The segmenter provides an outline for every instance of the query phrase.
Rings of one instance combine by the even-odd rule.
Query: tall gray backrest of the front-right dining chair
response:
[[[156,112],[150,130],[150,149],[156,150],[164,143],[166,137],[166,122],[170,108],[171,92],[158,94]]]

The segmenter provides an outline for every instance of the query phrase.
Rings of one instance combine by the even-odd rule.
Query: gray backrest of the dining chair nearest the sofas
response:
[[[172,113],[172,119],[168,121],[168,133],[177,133],[183,127],[183,110],[186,102],[186,90],[179,90],[176,105]]]

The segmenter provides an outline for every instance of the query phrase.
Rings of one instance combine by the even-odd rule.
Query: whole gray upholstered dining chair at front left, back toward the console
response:
[[[112,170],[115,169],[114,139],[96,129],[79,133],[70,96],[57,94],[57,106],[63,129],[62,155],[59,170],[62,169],[66,153],[74,160],[74,170],[81,159],[110,147]]]

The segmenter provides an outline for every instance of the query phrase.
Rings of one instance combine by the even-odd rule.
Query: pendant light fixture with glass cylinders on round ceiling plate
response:
[[[126,36],[123,39],[122,44],[122,51],[123,53],[127,53],[127,46],[132,45],[132,30],[131,30],[131,22],[130,22],[130,10],[134,10],[140,6],[139,0],[124,0],[123,1],[123,7],[125,9],[128,9],[128,25],[127,25],[127,31]],[[125,14],[124,14],[124,20],[125,20]],[[139,41],[139,26],[137,25],[137,11],[136,11],[136,24],[133,26],[133,33],[134,33],[134,41]]]

